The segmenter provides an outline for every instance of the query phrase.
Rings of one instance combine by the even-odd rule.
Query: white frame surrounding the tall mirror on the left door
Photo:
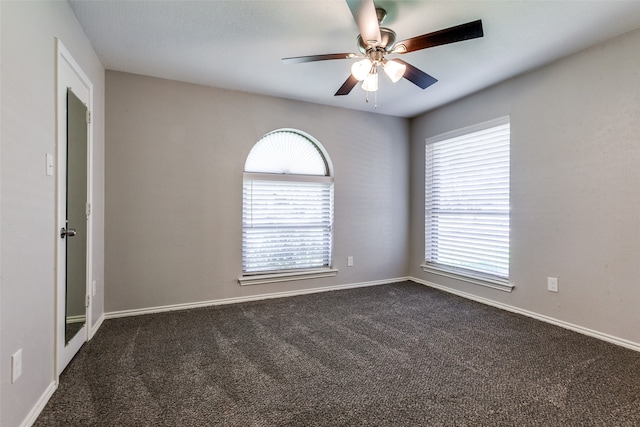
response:
[[[93,277],[93,124],[91,111],[93,111],[93,84],[87,75],[82,71],[78,63],[73,59],[71,53],[64,47],[59,39],[56,40],[56,221],[54,229],[55,238],[55,307],[54,307],[54,328],[55,328],[55,378],[56,383],[60,373],[69,364],[73,356],[89,338],[89,331],[92,325],[92,305],[93,295],[91,278]],[[87,253],[86,253],[86,278],[85,278],[85,326],[78,334],[65,346],[65,304],[66,304],[66,257],[61,254],[62,243],[60,229],[66,227],[66,158],[67,158],[67,88],[79,97],[86,100],[87,111]],[[69,351],[65,352],[65,347]]]

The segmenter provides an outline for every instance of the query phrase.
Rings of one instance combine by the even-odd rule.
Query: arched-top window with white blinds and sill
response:
[[[333,178],[320,143],[296,130],[271,132],[243,176],[240,283],[335,275]]]

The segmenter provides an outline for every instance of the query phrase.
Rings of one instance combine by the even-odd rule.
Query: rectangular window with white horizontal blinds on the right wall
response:
[[[423,269],[510,291],[509,118],[426,141]]]

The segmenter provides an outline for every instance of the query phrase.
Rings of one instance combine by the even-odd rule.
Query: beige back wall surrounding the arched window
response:
[[[107,312],[406,276],[407,120],[114,71],[106,87]],[[284,127],[333,162],[339,273],[240,286],[244,162]]]

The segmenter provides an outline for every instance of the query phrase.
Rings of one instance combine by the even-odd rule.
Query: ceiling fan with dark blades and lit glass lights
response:
[[[482,20],[477,20],[396,43],[396,33],[389,28],[380,26],[387,15],[384,9],[376,8],[373,0],[346,1],[360,30],[358,35],[360,54],[329,53],[282,58],[285,64],[360,58],[360,61],[351,66],[349,78],[340,86],[335,96],[348,95],[358,82],[362,82],[362,88],[367,92],[377,91],[378,67],[382,67],[385,74],[394,83],[404,77],[421,89],[426,89],[438,80],[401,59],[387,59],[385,55],[403,55],[416,50],[474,39],[484,35]]]

